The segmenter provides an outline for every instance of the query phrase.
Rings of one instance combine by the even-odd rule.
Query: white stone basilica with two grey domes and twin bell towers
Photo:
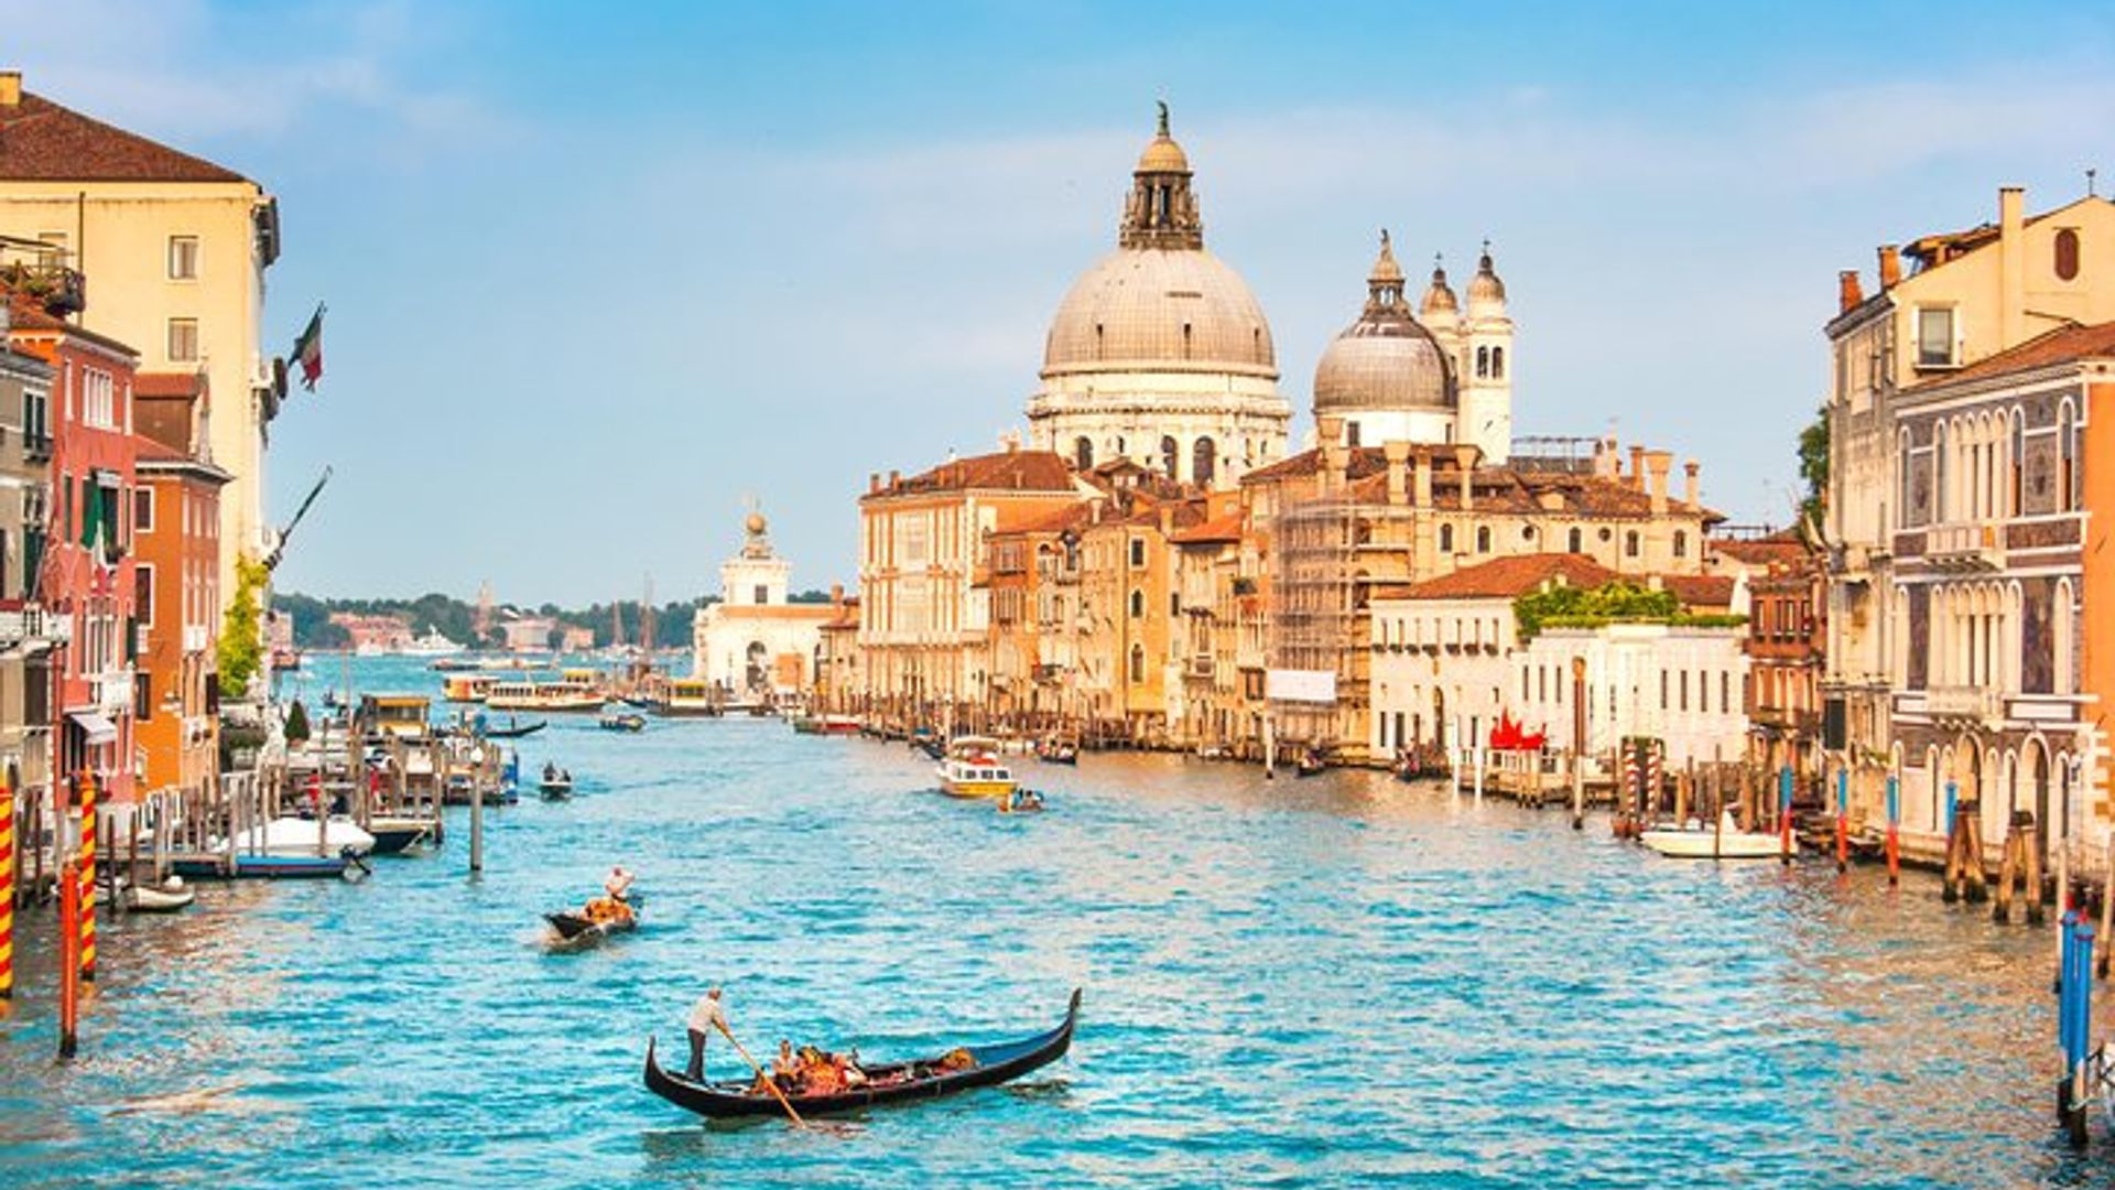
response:
[[[1117,250],[1051,320],[1030,440],[1081,470],[1132,459],[1231,487],[1286,455],[1292,407],[1277,394],[1271,326],[1242,275],[1206,250],[1191,178],[1163,104]],[[1354,445],[1474,443],[1485,464],[1506,462],[1512,322],[1489,248],[1466,313],[1438,267],[1413,313],[1385,233],[1366,286],[1366,309],[1316,368],[1316,417],[1341,417]]]

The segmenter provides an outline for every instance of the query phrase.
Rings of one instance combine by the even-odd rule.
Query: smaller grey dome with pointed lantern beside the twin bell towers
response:
[[[1345,411],[1453,411],[1447,351],[1402,301],[1402,269],[1387,239],[1366,282],[1366,309],[1316,364],[1316,415]]]

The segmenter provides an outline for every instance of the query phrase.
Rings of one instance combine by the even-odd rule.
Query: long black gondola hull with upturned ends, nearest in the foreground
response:
[[[967,1069],[941,1074],[939,1059],[869,1065],[865,1067],[867,1086],[842,1095],[789,1095],[787,1099],[802,1116],[827,1116],[831,1112],[857,1112],[882,1103],[939,1099],[941,1095],[954,1095],[973,1086],[998,1086],[1062,1059],[1072,1048],[1072,1025],[1077,1023],[1079,989],[1072,989],[1072,1004],[1066,1008],[1062,1025],[1022,1042],[967,1046],[975,1063]],[[711,1120],[776,1116],[785,1110],[770,1093],[751,1095],[751,1086],[753,1080],[694,1082],[681,1074],[670,1074],[654,1061],[654,1040],[647,1040],[647,1090],[677,1107],[687,1107]]]

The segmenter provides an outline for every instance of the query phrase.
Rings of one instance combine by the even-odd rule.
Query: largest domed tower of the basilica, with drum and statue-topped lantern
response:
[[[1030,443],[1079,470],[1132,459],[1170,479],[1231,487],[1286,453],[1292,407],[1263,307],[1203,246],[1189,155],[1167,108],[1138,157],[1117,250],[1051,318]]]

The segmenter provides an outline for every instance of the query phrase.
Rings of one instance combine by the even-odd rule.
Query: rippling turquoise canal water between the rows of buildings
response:
[[[431,686],[362,663],[362,686]],[[366,883],[106,919],[53,1063],[49,915],[0,1023],[0,1184],[2102,1186],[2052,1126],[2052,934],[1929,877],[1656,860],[1381,775],[1024,762],[1051,813],[776,720],[558,720],[571,803]],[[467,811],[455,811],[457,815]],[[639,934],[537,915],[641,875]],[[795,1133],[641,1086],[706,987],[753,1052],[1051,1027],[1028,1080]],[[723,1044],[715,1071],[734,1069]]]

